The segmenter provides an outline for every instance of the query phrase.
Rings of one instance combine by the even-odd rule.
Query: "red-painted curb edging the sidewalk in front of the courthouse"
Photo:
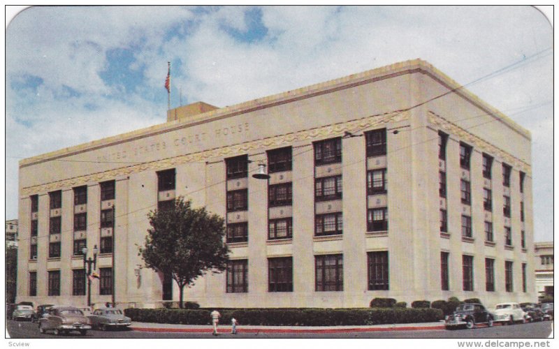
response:
[[[129,327],[134,331],[140,332],[187,332],[187,333],[212,333],[213,329],[196,329],[196,328],[154,328],[154,327]],[[372,327],[372,328],[359,328],[359,327],[351,327],[347,329],[274,329],[274,328],[266,328],[266,329],[257,329],[257,328],[237,328],[238,333],[309,333],[309,334],[331,334],[331,333],[347,333],[347,332],[389,332],[389,331],[433,331],[437,329],[444,329],[444,325],[439,326],[407,326],[407,327]],[[221,332],[222,334],[229,333],[228,331]]]

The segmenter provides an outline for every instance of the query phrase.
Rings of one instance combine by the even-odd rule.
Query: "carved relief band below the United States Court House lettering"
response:
[[[291,143],[301,140],[312,140],[314,138],[321,138],[327,136],[343,135],[344,132],[361,131],[364,128],[379,126],[389,122],[398,122],[409,119],[409,111],[397,111],[386,114],[372,115],[364,117],[363,119],[351,120],[341,122],[339,124],[312,128],[310,130],[298,131],[295,133],[288,133],[286,135],[277,135],[262,140],[254,140],[240,144],[234,144],[227,147],[210,149],[200,151],[194,154],[176,156],[174,158],[163,158],[157,161],[150,161],[139,165],[131,165],[124,168],[117,168],[105,172],[98,172],[94,174],[87,174],[81,177],[71,179],[63,179],[61,181],[54,181],[48,184],[41,184],[38,186],[29,186],[22,188],[22,195],[31,195],[34,193],[42,193],[46,191],[53,191],[57,188],[68,188],[73,186],[80,186],[90,182],[101,182],[114,179],[117,176],[126,176],[133,173],[143,172],[145,170],[163,170],[173,165],[181,165],[184,163],[195,163],[206,161],[209,158],[219,158],[222,156],[230,156],[231,154],[239,154],[251,150],[260,150],[267,147],[281,146],[285,143]]]

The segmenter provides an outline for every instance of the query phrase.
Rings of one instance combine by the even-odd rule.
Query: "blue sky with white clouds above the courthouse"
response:
[[[550,14],[548,14],[550,15]],[[553,239],[553,29],[530,6],[40,7],[6,31],[6,218],[17,162],[421,58],[532,133],[535,239]],[[530,58],[532,57],[532,58]]]

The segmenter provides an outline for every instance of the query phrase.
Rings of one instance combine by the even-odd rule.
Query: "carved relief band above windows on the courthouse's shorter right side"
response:
[[[452,124],[450,121],[447,121],[443,117],[435,114],[434,112],[428,112],[428,119],[429,122],[438,128],[447,131],[447,133],[453,133],[454,135],[458,135],[460,139],[467,141],[468,143],[472,144],[474,148],[481,149],[482,151],[488,154],[494,154],[495,157],[500,157],[502,161],[513,165],[514,168],[518,168],[528,174],[529,176],[532,175],[532,170],[528,163],[525,163],[519,158],[511,156],[504,150],[495,147],[493,144],[482,140],[481,138],[477,137],[477,135],[473,135],[472,133],[466,131],[464,128],[457,126],[456,124]]]

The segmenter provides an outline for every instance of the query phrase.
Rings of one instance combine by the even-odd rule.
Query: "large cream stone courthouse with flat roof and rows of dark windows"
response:
[[[228,269],[185,290],[204,307],[533,302],[530,154],[528,131],[421,60],[179,107],[20,161],[17,299],[83,306],[96,245],[92,302],[110,302],[113,272],[117,306],[177,300],[138,246],[148,211],[183,195],[226,217]]]

